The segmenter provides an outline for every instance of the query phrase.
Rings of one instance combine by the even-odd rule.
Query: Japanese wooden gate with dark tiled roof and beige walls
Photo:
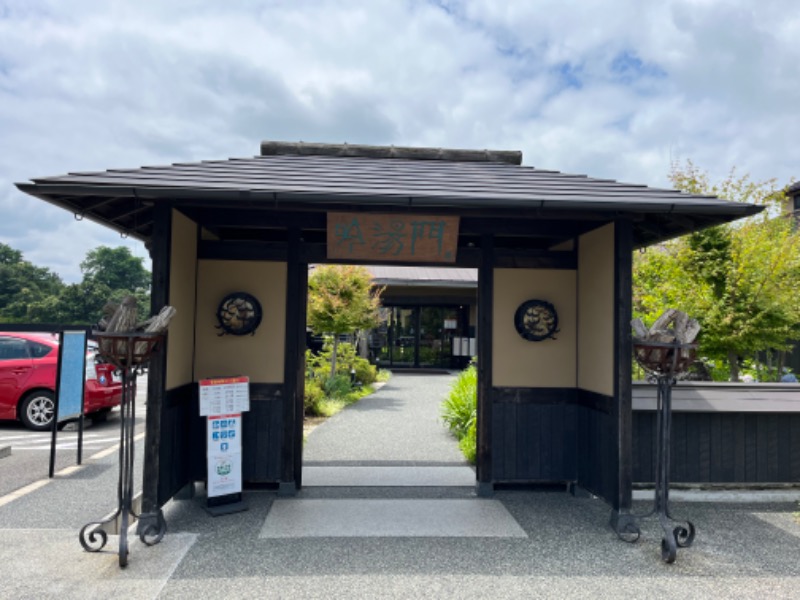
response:
[[[261,155],[18,184],[148,244],[154,308],[178,315],[151,359],[143,510],[205,478],[197,382],[243,373],[247,485],[302,485],[308,265],[478,269],[477,488],[566,482],[631,503],[631,256],[757,209],[520,166],[519,152],[265,142]],[[218,335],[245,290],[255,335]],[[529,341],[514,313],[540,299],[559,333]]]

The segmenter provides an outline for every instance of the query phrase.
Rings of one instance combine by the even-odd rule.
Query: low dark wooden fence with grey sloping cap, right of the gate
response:
[[[654,480],[656,387],[633,386],[633,481]],[[673,483],[800,483],[800,385],[678,384]]]

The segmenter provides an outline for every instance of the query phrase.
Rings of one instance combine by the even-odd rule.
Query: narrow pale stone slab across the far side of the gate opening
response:
[[[303,467],[305,487],[475,487],[469,467]]]

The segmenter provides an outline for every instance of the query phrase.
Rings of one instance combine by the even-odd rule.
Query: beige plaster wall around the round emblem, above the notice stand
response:
[[[195,379],[247,375],[252,382],[283,383],[286,263],[201,260],[198,267]],[[218,335],[217,306],[232,292],[261,302],[264,317],[255,335]]]

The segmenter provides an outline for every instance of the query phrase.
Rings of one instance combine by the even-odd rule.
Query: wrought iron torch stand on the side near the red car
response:
[[[99,552],[108,542],[105,526],[119,519],[119,566],[128,565],[128,528],[138,515],[133,510],[134,427],[136,422],[136,371],[150,358],[155,345],[163,338],[153,333],[95,332],[100,345],[100,356],[122,372],[122,403],[120,405],[119,479],[117,482],[117,510],[102,521],[92,521],[83,526],[78,536],[87,552]],[[139,539],[148,546],[159,543],[167,526],[159,511],[156,518],[148,515],[150,524],[140,528]]]

